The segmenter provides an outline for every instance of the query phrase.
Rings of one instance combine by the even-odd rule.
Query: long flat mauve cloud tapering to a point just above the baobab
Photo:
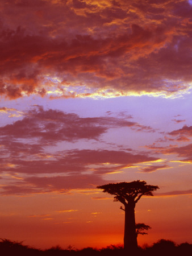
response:
[[[1,172],[81,174],[84,171],[91,171],[101,175],[130,167],[133,164],[158,160],[158,158],[148,155],[115,150],[71,150],[60,152],[58,155],[48,155],[48,157],[46,154],[37,156],[40,160],[33,159],[31,161],[31,159],[23,160],[16,157],[3,158]]]

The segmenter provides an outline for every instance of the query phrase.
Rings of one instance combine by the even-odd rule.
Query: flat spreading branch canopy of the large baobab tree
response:
[[[146,181],[136,180],[132,182],[109,183],[98,186],[103,189],[103,192],[114,196],[114,201],[127,205],[130,201],[137,203],[141,196],[153,196],[153,191],[158,189],[158,186],[148,185]]]

